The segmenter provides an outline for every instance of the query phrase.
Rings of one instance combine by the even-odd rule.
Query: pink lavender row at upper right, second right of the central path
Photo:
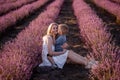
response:
[[[120,24],[120,5],[112,3],[109,0],[93,0],[93,2],[99,6],[108,11],[109,13],[112,13],[116,16],[116,22]]]

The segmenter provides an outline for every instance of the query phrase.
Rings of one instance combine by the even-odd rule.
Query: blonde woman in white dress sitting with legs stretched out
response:
[[[43,37],[42,63],[40,66],[52,66],[47,55],[51,55],[58,68],[63,68],[67,59],[77,64],[83,64],[86,68],[92,68],[96,63],[94,60],[88,60],[72,50],[63,49],[63,51],[55,52],[55,38],[58,32],[58,24],[51,23],[48,27],[47,34]]]

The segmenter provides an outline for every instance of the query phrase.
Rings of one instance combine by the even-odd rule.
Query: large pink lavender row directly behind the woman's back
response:
[[[0,54],[0,80],[30,78],[32,69],[41,62],[42,33],[56,19],[62,3],[55,0],[15,40],[5,44]]]

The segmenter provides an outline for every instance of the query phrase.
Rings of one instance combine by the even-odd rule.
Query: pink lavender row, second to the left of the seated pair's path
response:
[[[0,17],[0,32],[16,24],[18,20],[29,16],[31,13],[35,12],[35,10],[44,5],[47,1],[48,0],[38,0],[32,4],[25,5],[16,11],[10,12],[9,14]]]

